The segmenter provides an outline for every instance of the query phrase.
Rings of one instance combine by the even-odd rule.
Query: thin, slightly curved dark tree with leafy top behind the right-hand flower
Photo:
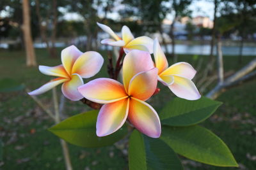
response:
[[[170,27],[170,37],[172,38],[172,57],[173,62],[177,62],[177,55],[175,55],[175,36],[174,25],[179,17],[188,16],[191,11],[188,10],[188,6],[192,3],[191,0],[173,0],[171,10],[174,13],[173,22]]]

